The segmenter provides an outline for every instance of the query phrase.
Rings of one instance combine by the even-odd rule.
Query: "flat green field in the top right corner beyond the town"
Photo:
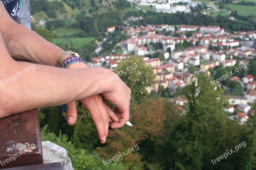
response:
[[[237,5],[237,4],[227,4],[227,7],[229,7],[234,11],[237,11],[239,15],[253,15],[256,14],[256,6],[250,6],[250,5]]]

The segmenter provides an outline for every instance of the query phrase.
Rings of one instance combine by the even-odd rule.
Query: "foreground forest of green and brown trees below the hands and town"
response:
[[[100,144],[90,114],[84,107],[78,108],[77,122],[73,126],[67,125],[60,107],[49,107],[40,109],[42,139],[65,147],[75,169],[256,168],[255,116],[250,116],[244,125],[230,120],[222,110],[228,105],[222,96],[224,92],[214,90],[209,77],[199,75],[198,86],[191,84],[182,89],[182,95],[188,100],[188,109],[182,110],[175,103],[152,97],[145,91],[155,77],[140,57],[133,56],[120,63],[117,70],[132,63],[137,63],[138,68],[121,78],[132,89],[133,128],[109,129],[106,144]],[[215,165],[211,163],[211,159],[243,141],[246,147]],[[139,151],[106,166],[102,163],[102,159],[111,158],[136,144]]]

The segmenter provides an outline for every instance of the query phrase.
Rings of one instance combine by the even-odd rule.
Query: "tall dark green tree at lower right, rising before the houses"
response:
[[[160,153],[164,156],[158,161],[163,162],[165,169],[212,169],[211,159],[237,142],[233,137],[239,125],[222,111],[227,100],[221,97],[220,90],[215,91],[205,82],[209,82],[208,77],[200,76],[197,87],[192,83],[183,90],[189,109],[174,124],[163,144]],[[235,130],[229,128],[231,125]],[[220,169],[220,165],[214,166]]]

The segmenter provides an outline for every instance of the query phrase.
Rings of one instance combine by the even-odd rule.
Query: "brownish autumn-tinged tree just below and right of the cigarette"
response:
[[[97,147],[103,159],[108,159],[110,155],[138,144],[140,150],[125,155],[121,160],[130,169],[143,169],[142,155],[151,157],[153,155],[156,138],[164,137],[164,103],[161,98],[143,100],[137,106],[132,107],[131,115],[133,128],[113,129],[108,133],[108,140],[105,147]]]

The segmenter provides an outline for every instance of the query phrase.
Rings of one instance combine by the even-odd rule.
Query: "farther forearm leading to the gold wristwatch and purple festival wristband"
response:
[[[55,66],[61,48],[44,40],[25,26],[12,22],[2,33],[9,54],[13,58]]]

